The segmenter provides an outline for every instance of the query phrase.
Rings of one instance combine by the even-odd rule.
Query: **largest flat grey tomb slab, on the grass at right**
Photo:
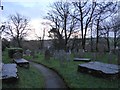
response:
[[[91,73],[100,77],[120,77],[120,65],[106,64],[102,62],[89,62],[79,64],[78,71]]]

